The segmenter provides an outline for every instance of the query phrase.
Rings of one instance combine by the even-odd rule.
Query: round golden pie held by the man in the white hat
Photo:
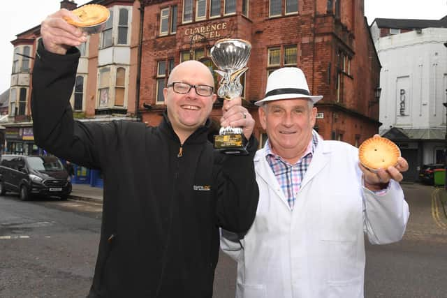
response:
[[[386,137],[370,137],[358,148],[360,163],[370,170],[397,165],[400,149]]]

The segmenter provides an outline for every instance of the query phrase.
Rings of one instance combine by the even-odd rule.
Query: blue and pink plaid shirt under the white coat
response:
[[[305,154],[294,165],[284,161],[281,156],[274,154],[270,147],[270,141],[265,143],[265,158],[272,168],[274,176],[277,177],[284,195],[286,195],[288,205],[293,209],[298,191],[301,187],[307,168],[312,161],[316,145],[318,144],[318,135],[312,131],[312,140],[307,145]]]

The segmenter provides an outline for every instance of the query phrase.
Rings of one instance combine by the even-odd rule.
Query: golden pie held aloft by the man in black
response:
[[[68,17],[64,17],[64,19],[68,24],[72,24],[76,27],[89,27],[101,24],[102,22],[107,21],[110,15],[109,10],[105,6],[99,4],[87,4],[80,8],[76,8],[71,12],[77,15],[80,21],[75,21]]]

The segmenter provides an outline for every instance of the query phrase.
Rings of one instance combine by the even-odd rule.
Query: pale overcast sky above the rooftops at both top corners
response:
[[[41,24],[47,15],[58,10],[61,0],[2,1],[0,18],[0,94],[10,87],[15,35]],[[78,5],[86,0],[75,0]],[[447,15],[447,0],[365,0],[368,24],[376,17],[395,19],[439,20]]]

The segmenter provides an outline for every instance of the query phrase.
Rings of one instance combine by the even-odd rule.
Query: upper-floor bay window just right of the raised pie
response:
[[[118,16],[117,18],[115,17],[116,15]],[[114,6],[110,8],[110,17],[101,33],[100,48],[112,45],[129,45],[130,22],[131,6]]]

